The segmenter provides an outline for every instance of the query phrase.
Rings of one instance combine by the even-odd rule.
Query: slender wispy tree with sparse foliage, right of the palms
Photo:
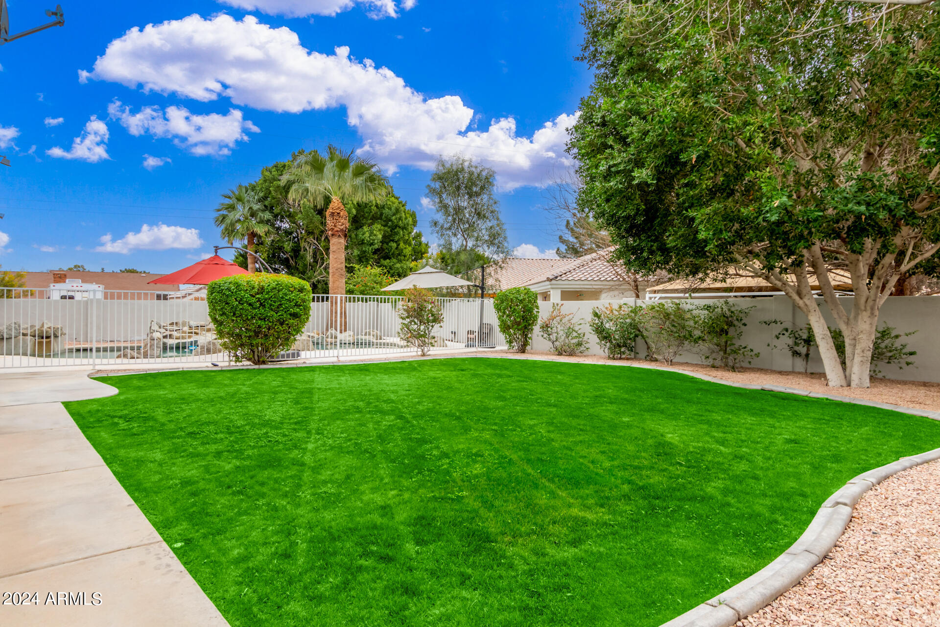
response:
[[[509,255],[506,227],[493,195],[496,174],[458,155],[440,159],[428,183],[428,197],[437,217],[431,229],[450,265],[460,274],[477,267],[479,256],[498,259]]]

